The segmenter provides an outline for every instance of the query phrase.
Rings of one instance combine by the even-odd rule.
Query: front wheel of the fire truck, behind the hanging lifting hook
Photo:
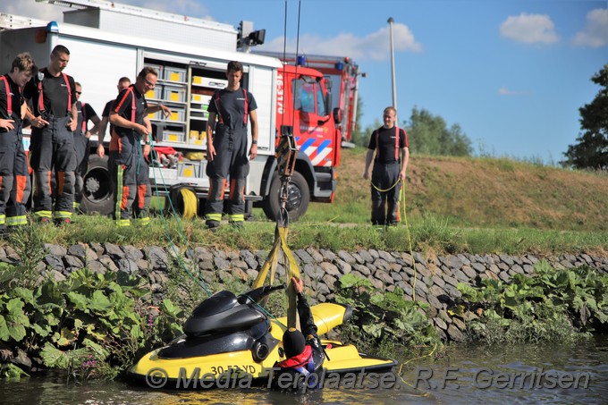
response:
[[[264,201],[264,214],[273,221],[276,220],[276,215],[279,212],[281,189],[281,179],[278,173],[274,173],[273,182],[270,184],[269,198]],[[287,212],[289,212],[290,221],[296,221],[301,215],[306,213],[308,203],[310,202],[310,189],[308,182],[298,172],[293,172],[291,181],[287,189]]]

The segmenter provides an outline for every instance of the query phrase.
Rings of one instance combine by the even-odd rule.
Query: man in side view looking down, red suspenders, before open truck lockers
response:
[[[143,68],[135,84],[120,92],[110,112],[113,125],[110,159],[116,187],[114,218],[118,226],[131,224],[131,207],[140,224],[148,224],[150,220],[148,206],[152,191],[148,160],[152,125],[146,113],[148,103],[144,94],[156,87],[157,76],[153,68]]]

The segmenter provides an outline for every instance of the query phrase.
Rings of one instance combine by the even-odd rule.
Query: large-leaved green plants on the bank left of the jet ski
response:
[[[69,371],[78,381],[114,378],[142,351],[180,333],[183,313],[171,300],[143,305],[150,291],[140,277],[93,274],[87,268],[63,281],[32,278],[22,266],[0,263],[0,347]],[[0,375],[24,373],[11,364]]]

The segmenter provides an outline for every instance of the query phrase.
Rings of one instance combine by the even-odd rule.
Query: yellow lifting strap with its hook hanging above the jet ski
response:
[[[270,277],[267,285],[273,285],[274,275],[276,274],[276,265],[279,262],[281,251],[283,250],[283,266],[285,266],[285,276],[287,286],[287,327],[297,327],[298,325],[298,297],[296,292],[293,290],[291,285],[291,278],[300,278],[300,268],[296,263],[291,249],[287,246],[287,233],[289,226],[289,213],[285,208],[287,202],[287,187],[291,180],[291,174],[295,166],[295,156],[298,152],[298,148],[293,139],[293,130],[291,127],[282,126],[281,128],[282,137],[279,141],[279,145],[276,148],[276,160],[277,160],[277,171],[281,176],[281,208],[276,216],[276,228],[274,229],[274,244],[270,250],[266,262],[259,271],[258,277],[253,282],[253,288],[256,289],[264,285],[268,271],[270,271]],[[262,305],[266,305],[266,302],[262,302]]]

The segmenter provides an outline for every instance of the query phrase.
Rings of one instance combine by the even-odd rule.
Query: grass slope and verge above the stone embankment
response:
[[[608,175],[572,172],[509,159],[411,156],[401,212],[406,221],[378,232],[369,223],[369,183],[362,177],[365,149],[342,151],[334,204],[311,203],[290,225],[292,249],[388,249],[446,253],[580,252],[608,254]],[[403,211],[405,208],[405,211]],[[403,216],[403,215],[402,215]],[[170,241],[171,240],[171,241]],[[274,223],[261,209],[237,231],[208,232],[203,221],[158,216],[146,228],[116,228],[98,215],[74,224],[32,225],[16,243],[117,243],[270,249]]]

